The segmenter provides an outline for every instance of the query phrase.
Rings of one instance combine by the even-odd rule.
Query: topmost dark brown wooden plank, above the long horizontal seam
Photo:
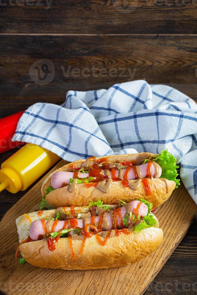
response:
[[[1,33],[197,33],[195,1],[52,0],[51,5],[45,1],[20,1],[16,5],[15,1],[7,0],[2,3],[7,5],[1,5]]]

